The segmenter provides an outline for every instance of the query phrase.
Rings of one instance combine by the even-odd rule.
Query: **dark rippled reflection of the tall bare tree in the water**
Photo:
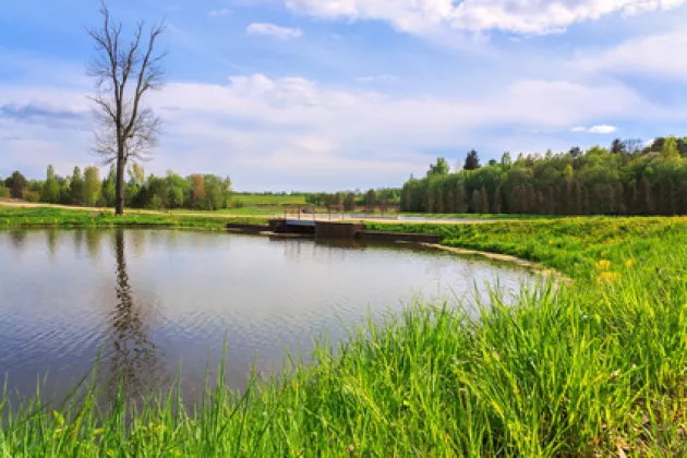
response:
[[[111,395],[120,384],[130,397],[137,397],[150,388],[154,381],[156,347],[147,336],[143,323],[142,308],[136,306],[126,272],[124,232],[114,233],[114,257],[117,261],[116,309],[111,315]]]

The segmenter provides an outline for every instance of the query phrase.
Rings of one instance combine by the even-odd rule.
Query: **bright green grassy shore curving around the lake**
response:
[[[63,217],[120,224],[107,215]],[[39,216],[0,208],[8,227],[33,218]],[[207,219],[196,224],[219,225]],[[314,364],[296,359],[284,377],[242,395],[220,383],[192,411],[174,393],[135,408],[124,396],[98,407],[93,387],[65,406],[27,400],[9,417],[4,397],[0,454],[687,454],[685,218],[367,226],[438,233],[446,245],[537,261],[575,282],[523,291],[510,308],[494,294],[477,321],[446,304],[409,304],[385,323],[352,330],[338,351],[321,340]]]

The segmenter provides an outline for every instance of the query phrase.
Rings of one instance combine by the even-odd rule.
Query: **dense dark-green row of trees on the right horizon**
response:
[[[575,147],[545,155],[505,153],[482,167],[477,152],[450,172],[438,158],[410,179],[401,210],[542,215],[687,214],[687,138],[615,140],[610,148]]]

